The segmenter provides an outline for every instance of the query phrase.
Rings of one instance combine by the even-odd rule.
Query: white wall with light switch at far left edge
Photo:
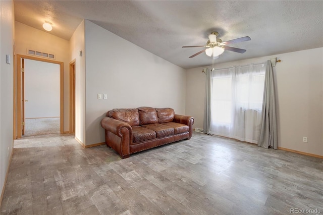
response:
[[[0,192],[3,192],[13,151],[14,4],[0,1]],[[6,63],[10,55],[11,64]]]

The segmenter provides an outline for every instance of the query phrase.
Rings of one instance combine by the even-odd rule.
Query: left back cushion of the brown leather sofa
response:
[[[130,126],[140,125],[138,109],[113,109],[107,116],[128,123]]]

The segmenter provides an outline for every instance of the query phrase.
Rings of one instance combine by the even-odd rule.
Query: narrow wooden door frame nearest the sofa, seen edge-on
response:
[[[70,62],[70,134],[75,133],[75,59]]]

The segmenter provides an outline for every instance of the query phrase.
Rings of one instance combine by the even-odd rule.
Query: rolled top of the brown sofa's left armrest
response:
[[[128,130],[129,133],[132,133],[132,128],[128,123],[122,122],[120,120],[116,120],[110,117],[104,117],[101,120],[101,126],[106,131],[110,131],[119,137],[124,136],[124,132]],[[127,130],[124,130],[126,128]]]

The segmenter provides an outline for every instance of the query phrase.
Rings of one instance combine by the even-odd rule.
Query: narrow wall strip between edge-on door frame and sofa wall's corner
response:
[[[75,60],[75,137],[85,142],[85,31],[84,20],[70,39],[70,62]],[[80,50],[83,55],[80,56]]]

